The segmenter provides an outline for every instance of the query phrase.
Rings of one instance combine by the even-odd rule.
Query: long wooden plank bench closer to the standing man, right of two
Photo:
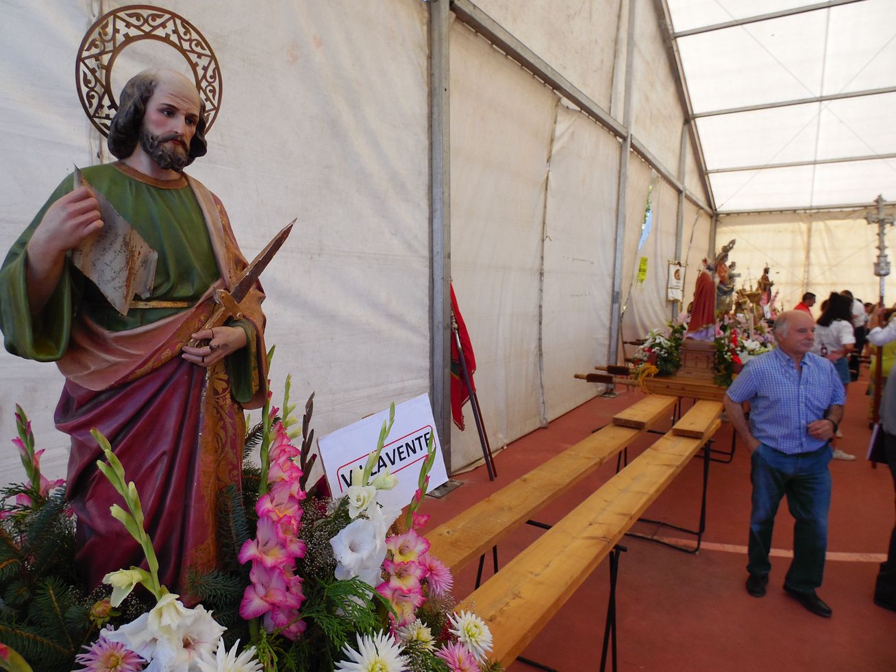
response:
[[[721,410],[717,401],[695,404],[676,427],[464,600],[461,606],[475,605],[491,628],[493,659],[507,667],[526,648],[719,429]]]

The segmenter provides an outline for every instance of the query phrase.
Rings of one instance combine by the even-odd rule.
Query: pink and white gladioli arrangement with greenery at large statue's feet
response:
[[[194,607],[159,583],[140,496],[99,433],[94,437],[105,457],[99,470],[124,500],[111,514],[141,545],[146,562],[145,568],[109,573],[103,586],[86,594],[73,575],[74,525],[65,514],[65,484],[41,479],[40,452],[34,452],[30,425],[17,408],[16,445],[28,463],[29,483],[0,494],[0,588],[6,604],[17,607],[0,612],[0,639],[8,646],[0,650],[0,667],[19,651],[24,667],[16,669],[22,670],[500,670],[487,659],[487,625],[469,611],[454,611],[452,575],[429,554],[421,532],[428,516],[420,507],[436,458],[432,436],[403,518],[378,496],[397,479],[386,470],[373,476],[394,405],[365,466],[351,474],[347,493],[333,498],[323,479],[306,487],[314,461],[313,400],[314,394],[300,429],[293,428],[298,421],[288,377],[282,418],[269,399],[247,435],[246,457],[257,448],[261,463],[246,460],[243,491],[224,493],[220,517],[222,529],[231,530],[229,557],[223,569],[191,576],[189,591],[199,600]],[[47,530],[44,519],[59,526],[55,536],[44,538],[65,540],[59,566],[52,561],[60,557],[58,548],[54,555],[30,545],[36,532]],[[4,563],[6,557],[18,560]],[[18,582],[7,579],[9,567],[27,562]],[[134,590],[138,584],[145,590]],[[20,585],[31,591],[28,599],[10,602],[6,596]],[[32,613],[42,621],[28,622]]]

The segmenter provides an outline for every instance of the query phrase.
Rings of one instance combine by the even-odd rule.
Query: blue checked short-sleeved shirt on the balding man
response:
[[[846,403],[843,383],[825,358],[807,352],[801,372],[780,348],[751,359],[728,387],[731,401],[750,402],[750,431],[780,452],[811,452],[828,442],[809,435],[809,423]]]

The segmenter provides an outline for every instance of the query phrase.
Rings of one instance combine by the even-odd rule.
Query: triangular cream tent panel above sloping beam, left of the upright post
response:
[[[573,86],[609,110],[623,0],[476,0],[475,4]]]

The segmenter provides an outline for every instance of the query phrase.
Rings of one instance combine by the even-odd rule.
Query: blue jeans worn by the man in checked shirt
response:
[[[828,547],[828,510],[831,508],[831,445],[814,452],[788,455],[762,444],[752,456],[753,511],[747,572],[767,576],[771,571],[771,530],[781,497],[796,520],[793,562],[784,584],[809,592],[822,585],[824,554]]]

